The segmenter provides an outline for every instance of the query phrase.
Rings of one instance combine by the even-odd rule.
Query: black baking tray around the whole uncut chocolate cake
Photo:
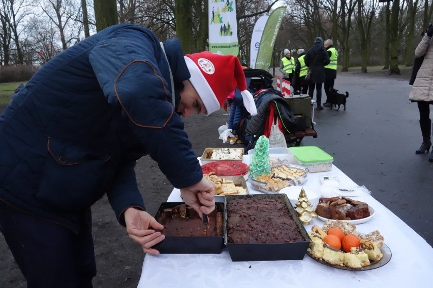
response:
[[[280,198],[286,203],[287,209],[292,215],[296,226],[304,241],[293,243],[249,244],[228,243],[227,239],[227,203],[238,198]],[[286,194],[253,194],[253,195],[227,195],[224,202],[226,213],[224,214],[224,241],[229,250],[232,261],[277,261],[277,260],[302,260],[311,240],[299,220],[295,209],[290,204]]]

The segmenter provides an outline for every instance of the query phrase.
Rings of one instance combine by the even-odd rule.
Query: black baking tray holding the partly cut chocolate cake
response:
[[[165,208],[173,208],[184,202],[162,202],[155,219],[158,219]],[[215,202],[215,209],[224,214],[224,203]],[[223,221],[223,231],[225,231]],[[224,247],[224,236],[215,237],[166,237],[152,248],[160,251],[160,254],[220,254]]]

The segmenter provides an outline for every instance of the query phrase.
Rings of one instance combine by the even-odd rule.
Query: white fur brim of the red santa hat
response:
[[[200,99],[203,101],[203,104],[206,107],[206,115],[220,110],[221,106],[218,102],[217,96],[215,96],[215,93],[213,93],[197,64],[194,63],[190,57],[183,56],[183,58],[185,59],[188,70],[191,74],[190,82],[196,89]]]

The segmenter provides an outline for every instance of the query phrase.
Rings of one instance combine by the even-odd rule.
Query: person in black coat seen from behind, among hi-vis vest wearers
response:
[[[325,82],[325,66],[330,63],[329,55],[323,47],[323,40],[317,37],[313,46],[305,54],[305,65],[312,69],[310,84],[308,85],[308,95],[313,99],[314,88],[316,88],[316,110],[323,110],[322,84]]]

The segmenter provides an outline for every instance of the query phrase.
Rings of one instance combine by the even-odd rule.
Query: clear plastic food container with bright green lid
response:
[[[332,169],[334,158],[316,146],[290,147],[299,165],[307,167],[310,173],[325,172]]]

